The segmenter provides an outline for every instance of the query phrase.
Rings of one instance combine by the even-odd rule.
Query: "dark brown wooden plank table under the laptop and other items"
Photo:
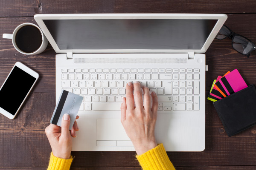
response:
[[[56,13],[225,13],[226,25],[256,42],[255,0],[1,0],[0,85],[20,61],[40,79],[14,120],[0,114],[0,170],[45,170],[51,148],[44,133],[55,108],[55,51],[51,45],[26,56],[2,38],[35,14]],[[247,84],[256,84],[256,52],[238,54],[231,40],[214,40],[206,53],[206,94],[218,75],[237,68]],[[135,152],[73,152],[72,170],[140,170]],[[228,137],[212,102],[206,100],[206,148],[168,152],[177,170],[255,170],[256,127]]]

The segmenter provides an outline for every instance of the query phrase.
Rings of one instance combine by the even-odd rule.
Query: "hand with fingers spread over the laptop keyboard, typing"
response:
[[[157,95],[152,92],[152,108],[150,92],[147,87],[143,87],[144,92],[144,107],[142,99],[142,91],[140,83],[131,82],[126,85],[126,98],[123,98],[121,105],[121,122],[125,128],[125,132],[134,144],[134,148],[138,155],[141,155],[148,150],[157,146],[157,142],[154,135],[156,120],[157,120],[157,108],[158,101]],[[136,107],[134,107],[134,99]]]

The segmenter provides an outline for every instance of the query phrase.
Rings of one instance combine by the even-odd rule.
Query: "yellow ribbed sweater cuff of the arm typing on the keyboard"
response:
[[[136,156],[143,170],[175,170],[163,144]]]

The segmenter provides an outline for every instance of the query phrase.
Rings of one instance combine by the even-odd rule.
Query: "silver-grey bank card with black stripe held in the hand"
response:
[[[76,120],[76,115],[79,111],[82,101],[82,96],[62,90],[57,105],[53,111],[50,123],[61,126],[62,117],[67,113],[70,115],[69,130],[71,130]]]

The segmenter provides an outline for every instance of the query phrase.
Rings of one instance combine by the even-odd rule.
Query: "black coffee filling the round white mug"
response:
[[[17,47],[26,53],[36,51],[42,44],[43,38],[40,30],[35,26],[23,26],[16,34]]]

